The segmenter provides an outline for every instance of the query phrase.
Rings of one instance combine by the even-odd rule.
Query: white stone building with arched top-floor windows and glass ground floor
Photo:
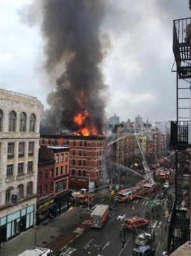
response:
[[[0,89],[0,242],[35,224],[41,113],[36,97]]]

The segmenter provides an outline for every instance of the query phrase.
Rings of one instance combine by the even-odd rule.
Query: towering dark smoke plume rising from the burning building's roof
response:
[[[74,116],[88,111],[85,125],[102,133],[106,85],[101,62],[108,46],[101,34],[105,3],[41,0],[45,69],[56,81],[47,101],[54,124],[59,121],[61,127],[70,131],[79,129]]]

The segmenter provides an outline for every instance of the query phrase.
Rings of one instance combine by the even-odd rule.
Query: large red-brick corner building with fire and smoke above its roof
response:
[[[41,135],[40,145],[69,146],[69,188],[102,182],[105,136]]]

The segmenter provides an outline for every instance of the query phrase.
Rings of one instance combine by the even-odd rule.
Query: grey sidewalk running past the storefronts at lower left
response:
[[[53,245],[53,249],[55,250],[57,250],[57,246],[55,246],[57,245],[56,241],[59,240],[60,250],[60,248],[66,245],[66,242],[63,243],[63,245],[61,243],[66,234],[69,234],[72,229],[77,227],[78,224],[80,224],[82,220],[85,220],[89,215],[90,211],[86,208],[73,207],[71,210],[62,213],[59,217],[54,218],[50,222],[37,226],[35,229],[29,229],[29,231],[22,232],[20,236],[4,243],[0,255],[17,256],[25,250],[33,248],[35,239],[36,245],[47,246],[50,248],[52,248],[51,245]],[[58,239],[60,237],[62,237],[62,239]]]

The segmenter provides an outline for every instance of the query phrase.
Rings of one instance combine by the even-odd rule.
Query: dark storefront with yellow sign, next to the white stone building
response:
[[[36,206],[36,225],[40,225],[41,223],[55,217],[56,214],[54,201],[55,198],[51,197],[49,199],[38,202]]]

